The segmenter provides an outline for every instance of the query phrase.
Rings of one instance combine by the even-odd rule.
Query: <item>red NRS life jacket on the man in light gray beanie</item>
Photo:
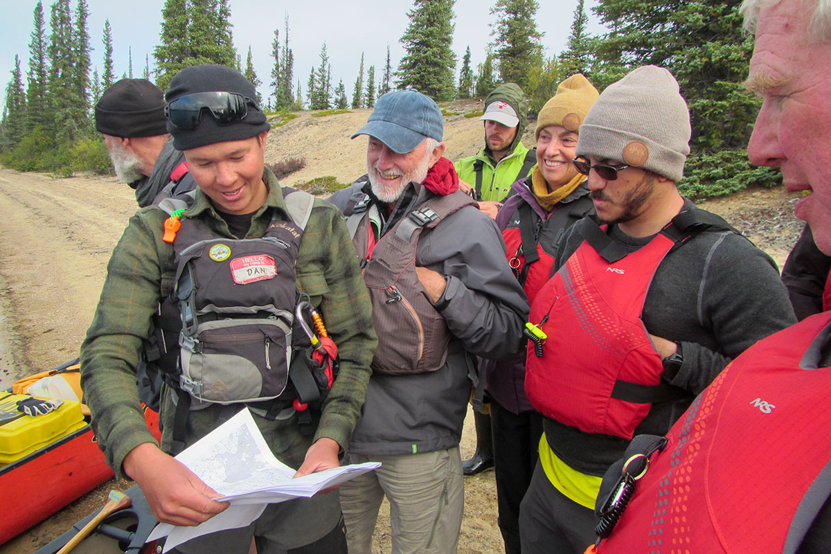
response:
[[[641,319],[652,277],[691,234],[730,226],[693,208],[627,253],[605,226],[590,219],[578,225],[586,240],[531,305],[529,321],[548,338],[541,357],[529,347],[525,392],[534,409],[561,424],[632,439],[653,402],[686,394],[661,384],[661,355]]]

